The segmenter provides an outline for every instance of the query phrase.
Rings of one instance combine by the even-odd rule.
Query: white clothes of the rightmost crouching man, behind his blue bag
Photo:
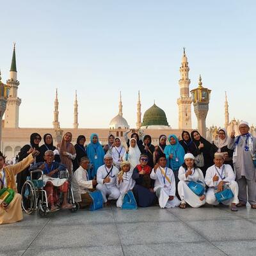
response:
[[[217,172],[218,171],[218,172]],[[212,178],[214,175],[217,175],[219,177],[219,180],[213,181]],[[211,205],[218,205],[219,202],[216,200],[216,196],[214,194],[214,188],[218,186],[218,184],[221,182],[221,180],[226,181],[231,189],[234,197],[230,200],[225,200],[221,202],[221,204],[229,205],[229,204],[238,204],[238,185],[235,181],[235,174],[233,172],[232,167],[229,164],[223,164],[221,168],[218,168],[217,166],[212,165],[209,167],[205,173],[205,184],[209,187],[206,191],[205,195],[205,201],[207,204]]]

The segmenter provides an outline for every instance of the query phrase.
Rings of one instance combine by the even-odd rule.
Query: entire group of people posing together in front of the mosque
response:
[[[104,203],[116,200],[117,207],[122,207],[125,194],[132,191],[140,207],[159,204],[161,208],[184,209],[187,204],[200,207],[205,202],[221,202],[237,211],[237,207],[249,202],[256,209],[256,138],[249,130],[248,123],[241,122],[240,135],[232,132],[228,137],[221,128],[218,139],[211,142],[198,131],[183,131],[180,139],[175,134],[163,134],[156,146],[149,135],[142,137],[134,132],[128,138],[127,131],[127,147],[113,134],[104,146],[97,134],[90,136],[86,147],[83,135],[73,145],[70,132],[64,134],[56,147],[51,134],[45,134],[44,144],[39,147],[41,136],[33,133],[30,144],[20,150],[19,163],[4,166],[5,157],[0,154],[0,189],[12,188],[17,192],[12,202],[6,204],[1,200],[0,190],[0,224],[22,219],[19,194],[29,173],[38,169],[44,173],[51,211],[72,207],[67,200],[68,186],[72,186],[82,208],[92,204],[90,193],[97,190]],[[66,169],[72,184],[59,175]]]

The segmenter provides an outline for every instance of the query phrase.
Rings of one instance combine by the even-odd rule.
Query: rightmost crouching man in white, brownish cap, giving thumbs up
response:
[[[225,205],[231,204],[231,211],[237,211],[236,204],[238,200],[238,185],[235,181],[235,174],[229,164],[223,164],[225,157],[222,153],[214,154],[214,165],[209,167],[205,174],[205,184],[209,187],[205,195],[207,204],[218,205],[215,193],[224,189],[230,189],[233,193],[232,198],[224,200],[221,203]]]

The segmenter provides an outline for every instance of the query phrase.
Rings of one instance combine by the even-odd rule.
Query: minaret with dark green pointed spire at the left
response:
[[[17,80],[16,54],[15,43],[13,44],[12,64],[10,68],[10,79],[6,81],[10,86],[10,95],[7,100],[4,127],[18,128],[19,127],[19,107],[21,99],[18,97],[18,86],[20,82]]]

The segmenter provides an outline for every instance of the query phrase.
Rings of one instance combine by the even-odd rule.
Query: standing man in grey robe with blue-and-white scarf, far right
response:
[[[233,163],[239,186],[237,207],[246,206],[248,200],[252,209],[256,209],[256,168],[253,164],[253,160],[256,161],[256,138],[249,133],[249,130],[248,123],[241,122],[239,124],[241,135],[235,137],[235,133],[232,132],[228,148],[234,149]]]

